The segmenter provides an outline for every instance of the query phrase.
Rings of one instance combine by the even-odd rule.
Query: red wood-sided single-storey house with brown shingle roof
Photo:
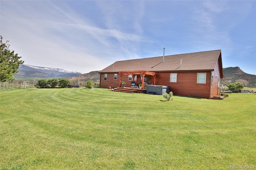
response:
[[[212,98],[220,95],[221,50],[116,61],[99,71],[100,87],[146,84],[169,86],[174,95]],[[143,80],[143,81],[142,81]]]

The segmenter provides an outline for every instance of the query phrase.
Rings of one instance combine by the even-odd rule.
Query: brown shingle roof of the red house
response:
[[[167,55],[163,57],[151,57],[143,59],[131,59],[116,61],[112,65],[99,71],[119,72],[119,71],[189,71],[189,70],[214,70],[221,50],[204,51],[197,53],[186,53],[178,55]],[[182,67],[180,62],[182,60]]]

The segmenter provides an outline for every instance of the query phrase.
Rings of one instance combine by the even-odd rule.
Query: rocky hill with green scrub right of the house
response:
[[[246,87],[256,88],[256,75],[245,73],[239,67],[223,68],[221,84],[228,85],[235,82],[242,83]]]

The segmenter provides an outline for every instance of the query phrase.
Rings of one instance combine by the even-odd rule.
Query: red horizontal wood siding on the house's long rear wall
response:
[[[171,73],[177,73],[176,83],[170,82]],[[197,73],[206,73],[206,83],[197,83]],[[110,86],[114,88],[119,86],[120,77],[117,77],[117,80],[114,80],[114,73],[107,73],[108,79],[107,81],[104,81],[104,74],[106,73],[101,73],[100,76],[100,87],[107,88]],[[146,77],[150,78],[148,80],[150,84],[154,81],[152,76]],[[125,87],[130,87],[131,81],[128,81],[128,75],[123,75],[122,81],[126,82]],[[138,77],[135,82],[138,85],[140,83],[140,78]],[[174,95],[209,98],[210,83],[210,71],[161,72],[156,75],[156,85],[170,86],[170,91],[172,91]]]

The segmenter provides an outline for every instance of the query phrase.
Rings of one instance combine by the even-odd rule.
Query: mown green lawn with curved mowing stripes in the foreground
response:
[[[0,91],[0,168],[256,168],[256,94],[228,95]]]

